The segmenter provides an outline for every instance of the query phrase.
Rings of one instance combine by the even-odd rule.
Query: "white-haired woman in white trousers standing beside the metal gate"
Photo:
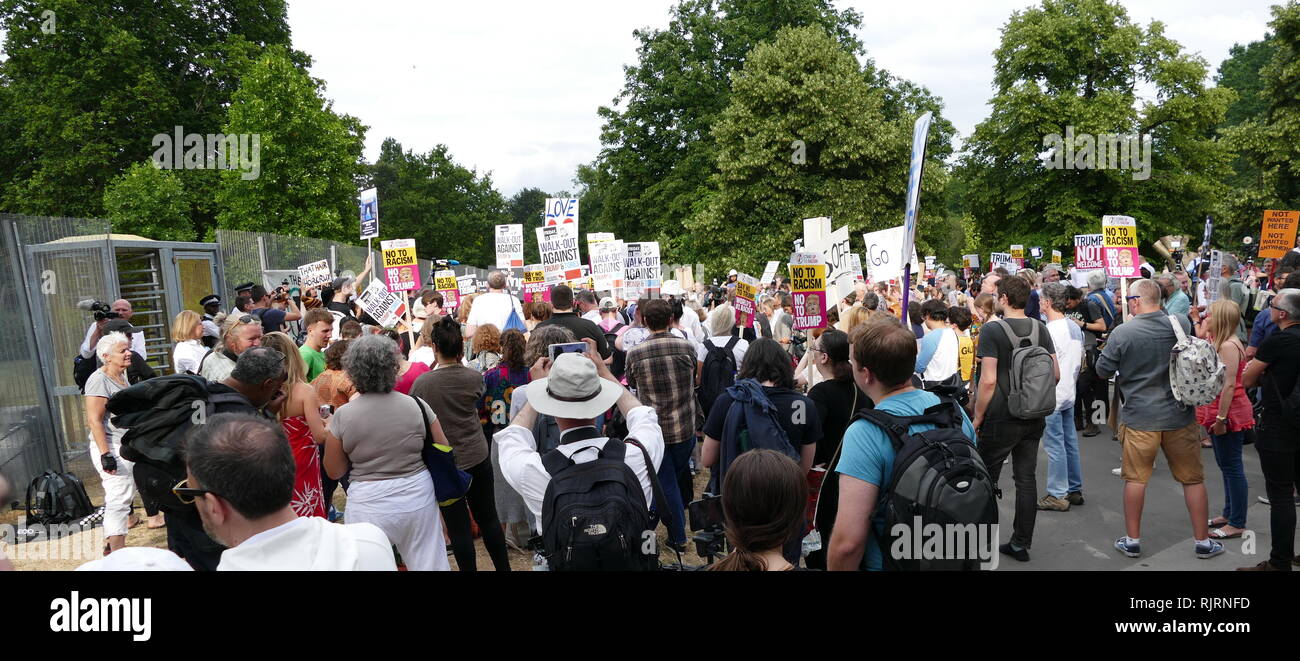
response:
[[[122,429],[108,415],[108,398],[125,390],[126,367],[131,364],[131,341],[113,332],[99,338],[95,355],[103,364],[86,381],[86,425],[90,428],[90,457],[104,485],[104,537],[108,550],[126,545],[126,530],[131,501],[135,500],[135,480],[131,462],[122,458]]]

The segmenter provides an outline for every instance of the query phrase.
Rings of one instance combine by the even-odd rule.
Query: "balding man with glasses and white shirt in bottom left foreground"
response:
[[[395,571],[393,549],[369,523],[299,517],[294,455],[280,424],[217,414],[186,438],[186,480],[203,530],[226,546],[217,571]]]

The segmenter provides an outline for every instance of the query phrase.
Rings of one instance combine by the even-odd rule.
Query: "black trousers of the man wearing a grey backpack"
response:
[[[1039,441],[1046,428],[1044,420],[985,422],[979,431],[979,454],[988,474],[997,484],[1002,461],[1011,457],[1015,480],[1015,522],[1011,544],[1022,549],[1034,543],[1034,523],[1039,515],[1039,487],[1034,472],[1039,462]]]

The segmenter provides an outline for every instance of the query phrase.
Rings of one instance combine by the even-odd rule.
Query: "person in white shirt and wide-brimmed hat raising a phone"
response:
[[[595,416],[618,405],[628,422],[628,438],[634,438],[645,448],[654,466],[647,470],[645,454],[632,445],[628,446],[624,462],[641,483],[646,505],[654,501],[650,474],[659,470],[664,450],[659,416],[654,409],[642,406],[619,385],[597,354],[595,344],[590,340],[585,342],[586,354],[562,354],[554,363],[545,357],[537,360],[532,368],[533,380],[526,389],[528,403],[508,427],[493,437],[500,453],[502,475],[524,498],[537,520],[542,520],[542,500],[551,481],[532,432],[538,412],[555,418],[560,429],[556,452],[575,463],[586,463],[595,459],[595,453],[584,450],[603,449],[608,441],[608,437],[597,431]]]

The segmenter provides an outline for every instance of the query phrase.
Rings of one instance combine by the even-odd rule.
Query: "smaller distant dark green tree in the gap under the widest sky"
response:
[[[456,164],[445,144],[416,154],[385,139],[373,181],[385,238],[415,238],[420,256],[428,259],[485,268],[497,263],[493,232],[511,223],[510,207],[489,174]],[[534,220],[530,226],[537,225]],[[526,241],[528,229],[524,234]]]

